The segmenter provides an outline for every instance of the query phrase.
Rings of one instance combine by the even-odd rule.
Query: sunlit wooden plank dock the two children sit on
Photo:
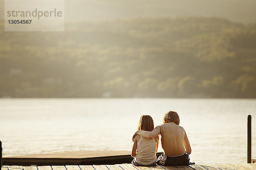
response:
[[[189,166],[137,167],[132,164],[66,165],[66,166],[6,166],[2,170],[256,170],[256,163],[193,164]]]

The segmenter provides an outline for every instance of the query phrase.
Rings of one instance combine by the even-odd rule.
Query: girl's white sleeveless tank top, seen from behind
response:
[[[137,153],[135,161],[139,164],[149,165],[157,160],[157,143],[153,139],[146,139],[140,136],[140,141],[137,142]]]

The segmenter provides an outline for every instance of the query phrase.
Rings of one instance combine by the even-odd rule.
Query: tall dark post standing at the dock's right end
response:
[[[247,163],[252,161],[252,116],[247,116]]]

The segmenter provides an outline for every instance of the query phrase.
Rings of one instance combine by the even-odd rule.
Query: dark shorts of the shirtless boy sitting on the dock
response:
[[[184,153],[180,156],[167,156],[164,153],[157,158],[157,164],[159,165],[188,165],[189,155]]]

